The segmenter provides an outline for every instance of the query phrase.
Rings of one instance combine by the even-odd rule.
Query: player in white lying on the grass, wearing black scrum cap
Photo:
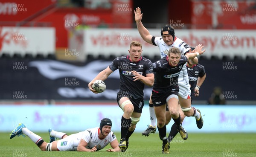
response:
[[[41,151],[99,151],[110,143],[112,148],[107,151],[120,151],[115,134],[111,131],[112,122],[108,118],[101,120],[99,127],[90,128],[77,134],[67,135],[49,129],[50,138],[59,138],[52,142],[44,142],[37,134],[30,131],[23,123],[12,131],[10,139],[15,136],[28,136]],[[23,135],[25,134],[25,135]]]

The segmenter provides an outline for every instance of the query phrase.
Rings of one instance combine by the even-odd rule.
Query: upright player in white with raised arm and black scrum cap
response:
[[[167,56],[168,51],[172,47],[177,47],[180,49],[182,55],[186,55],[186,53],[189,52],[189,45],[186,44],[181,39],[175,37],[175,30],[171,26],[164,26],[161,29],[161,37],[154,37],[149,32],[148,29],[146,29],[143,26],[143,23],[141,22],[143,14],[141,14],[140,8],[136,8],[136,11],[134,11],[135,14],[135,21],[137,24],[137,29],[140,33],[140,36],[143,38],[144,41],[146,41],[149,44],[155,45],[159,47],[161,58]],[[192,51],[192,52],[195,52]],[[192,64],[198,63],[198,58],[192,58],[189,60]],[[178,85],[180,87],[179,90],[179,103],[180,106],[184,112],[184,114],[181,114],[181,122],[185,118],[185,116],[195,116],[196,123],[198,128],[203,127],[203,119],[200,113],[200,110],[191,107],[191,100],[190,100],[190,85],[189,85],[189,79],[188,79],[188,73],[186,69],[186,64],[183,65],[182,71],[180,71],[180,76],[178,78]],[[150,118],[151,118],[151,125],[148,126],[148,128],[143,132],[143,135],[148,136],[150,133],[154,133],[156,131],[156,116],[154,113],[152,100],[150,98],[149,100],[149,112],[150,112]],[[191,110],[192,109],[192,110]]]

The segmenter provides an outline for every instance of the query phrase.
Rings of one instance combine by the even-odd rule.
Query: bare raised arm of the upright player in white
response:
[[[141,14],[139,7],[136,8],[136,11],[134,10],[134,15],[135,15],[134,18],[136,21],[137,29],[140,33],[140,36],[143,38],[145,42],[153,45],[151,41],[152,35],[150,35],[150,33],[148,32],[148,29],[146,29],[141,22],[143,14]]]

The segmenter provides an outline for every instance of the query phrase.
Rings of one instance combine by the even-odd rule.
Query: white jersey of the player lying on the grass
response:
[[[86,148],[88,149],[91,149],[95,145],[97,145],[96,148],[97,148],[97,151],[99,151],[100,149],[103,149],[105,146],[107,146],[108,143],[112,142],[113,140],[116,140],[116,135],[112,131],[104,139],[102,140],[99,139],[99,133],[100,133],[99,127],[90,128],[83,132],[84,133],[81,139],[83,139],[88,143],[88,145],[86,146]]]

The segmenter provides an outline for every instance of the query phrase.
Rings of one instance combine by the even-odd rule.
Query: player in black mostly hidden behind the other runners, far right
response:
[[[191,47],[191,50],[194,50],[195,47]],[[189,84],[190,84],[190,90],[191,90],[191,103],[192,103],[192,98],[194,96],[199,96],[199,88],[203,84],[205,78],[206,78],[206,73],[204,66],[201,64],[192,64],[190,61],[186,63],[187,71],[188,71],[188,76],[189,76]],[[166,109],[168,111],[168,109]],[[180,112],[182,112],[180,110]],[[184,115],[183,115],[184,116]],[[166,124],[168,124],[171,120],[171,117],[168,117],[166,120]],[[176,124],[174,123],[171,127],[171,131],[168,136],[168,140],[171,142],[173,138],[178,134],[178,131],[176,129]]]

